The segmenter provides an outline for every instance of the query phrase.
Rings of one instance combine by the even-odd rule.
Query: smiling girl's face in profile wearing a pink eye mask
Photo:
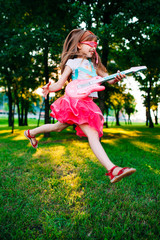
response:
[[[84,41],[78,44],[79,53],[86,56],[86,58],[92,58],[95,53],[97,44],[95,41]]]

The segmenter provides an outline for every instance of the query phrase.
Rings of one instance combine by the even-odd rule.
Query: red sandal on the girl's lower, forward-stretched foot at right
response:
[[[119,182],[122,178],[127,177],[127,176],[133,174],[134,172],[136,172],[135,168],[124,167],[118,172],[117,175],[113,175],[113,170],[116,167],[118,167],[118,166],[114,166],[113,168],[111,168],[109,170],[108,173],[106,173],[106,176],[110,176],[111,183]]]

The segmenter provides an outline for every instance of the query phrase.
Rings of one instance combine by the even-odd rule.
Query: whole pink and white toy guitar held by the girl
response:
[[[105,89],[100,86],[101,83],[114,79],[118,74],[130,74],[138,71],[146,70],[146,66],[132,67],[120,73],[115,73],[107,77],[93,77],[87,80],[74,80],[70,82],[65,89],[66,94],[72,98],[85,98],[92,92],[99,92]]]

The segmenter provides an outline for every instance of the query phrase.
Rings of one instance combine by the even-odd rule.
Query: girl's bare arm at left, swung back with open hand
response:
[[[64,86],[65,82],[67,81],[69,75],[71,74],[72,70],[69,66],[66,66],[60,79],[55,83],[47,83],[44,87],[42,87],[43,91],[42,94],[45,98],[49,92],[57,92]]]

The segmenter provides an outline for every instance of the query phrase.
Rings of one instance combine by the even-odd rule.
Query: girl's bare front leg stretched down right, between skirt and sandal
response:
[[[101,162],[101,164],[107,169],[110,170],[115,166],[107,156],[106,152],[104,151],[100,141],[99,141],[99,136],[98,132],[94,129],[91,128],[88,124],[83,124],[79,126],[82,131],[86,134],[88,137],[88,142],[89,145],[95,154],[95,156],[98,158],[98,160]],[[121,168],[117,167],[113,171],[114,174],[117,174]]]

